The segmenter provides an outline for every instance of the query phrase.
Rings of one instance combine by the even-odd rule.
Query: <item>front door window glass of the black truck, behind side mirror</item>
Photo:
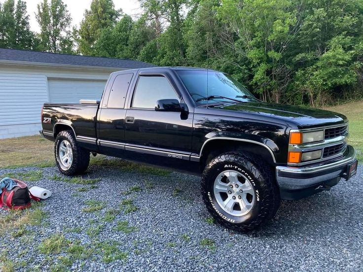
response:
[[[136,85],[132,107],[154,108],[160,99],[178,99],[173,87],[164,76],[140,76]]]

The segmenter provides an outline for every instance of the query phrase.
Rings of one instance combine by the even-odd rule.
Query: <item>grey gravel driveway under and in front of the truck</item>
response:
[[[37,168],[0,170],[26,172]],[[52,191],[44,201],[49,213],[39,226],[27,226],[28,234],[12,238],[3,233],[0,248],[18,271],[50,270],[66,252],[45,256],[38,245],[54,233],[80,240],[87,247],[95,240],[117,241],[127,252],[126,260],[104,262],[102,253],[85,260],[75,260],[72,271],[362,271],[363,269],[363,166],[349,181],[341,182],[328,192],[300,201],[283,201],[276,217],[265,227],[248,234],[208,224],[209,214],[200,195],[200,178],[181,173],[166,176],[92,166],[86,177],[100,178],[98,188],[49,179],[59,174],[56,168],[44,168],[43,178],[27,182]],[[150,186],[153,184],[153,186]],[[139,185],[140,192],[124,195]],[[150,188],[152,187],[152,188]],[[180,192],[179,192],[179,189]],[[73,195],[76,193],[76,195]],[[115,220],[103,220],[107,209],[119,209],[124,199],[132,199],[139,210]],[[99,200],[107,204],[101,211],[86,213],[84,201]],[[7,211],[0,211],[0,218]],[[90,222],[90,219],[93,219]],[[124,234],[113,230],[118,221],[127,220],[137,231]],[[89,237],[90,227],[104,224],[100,234]],[[73,233],[68,228],[80,227]],[[34,237],[35,235],[35,237]],[[188,236],[188,238],[182,238]],[[34,237],[34,238],[33,238]],[[208,239],[211,246],[201,245]],[[28,250],[27,250],[28,249]],[[24,251],[26,250],[26,251]],[[25,252],[25,253],[24,253]],[[22,267],[17,264],[23,261]],[[25,262],[24,262],[25,261]]]

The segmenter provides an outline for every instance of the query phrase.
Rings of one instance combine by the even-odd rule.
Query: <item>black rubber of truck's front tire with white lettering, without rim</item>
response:
[[[248,178],[255,192],[253,208],[243,216],[224,211],[214,195],[217,176],[225,170],[237,171]],[[279,188],[271,167],[262,158],[244,152],[227,152],[213,158],[202,174],[202,196],[208,211],[228,229],[248,232],[259,228],[276,214],[280,206]]]

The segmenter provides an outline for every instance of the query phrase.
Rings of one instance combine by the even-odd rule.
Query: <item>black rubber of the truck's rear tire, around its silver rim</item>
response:
[[[73,161],[70,168],[67,170],[62,169],[58,157],[59,146],[63,140],[67,140],[71,144],[73,152]],[[72,130],[61,131],[57,135],[54,144],[54,155],[58,169],[65,175],[72,176],[81,174],[88,168],[90,152],[78,145]]]

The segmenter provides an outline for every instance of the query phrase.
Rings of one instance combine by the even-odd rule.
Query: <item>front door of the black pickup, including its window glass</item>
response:
[[[126,150],[156,161],[190,159],[192,114],[155,111],[157,100],[180,101],[181,96],[171,82],[167,75],[139,76],[126,112]]]

